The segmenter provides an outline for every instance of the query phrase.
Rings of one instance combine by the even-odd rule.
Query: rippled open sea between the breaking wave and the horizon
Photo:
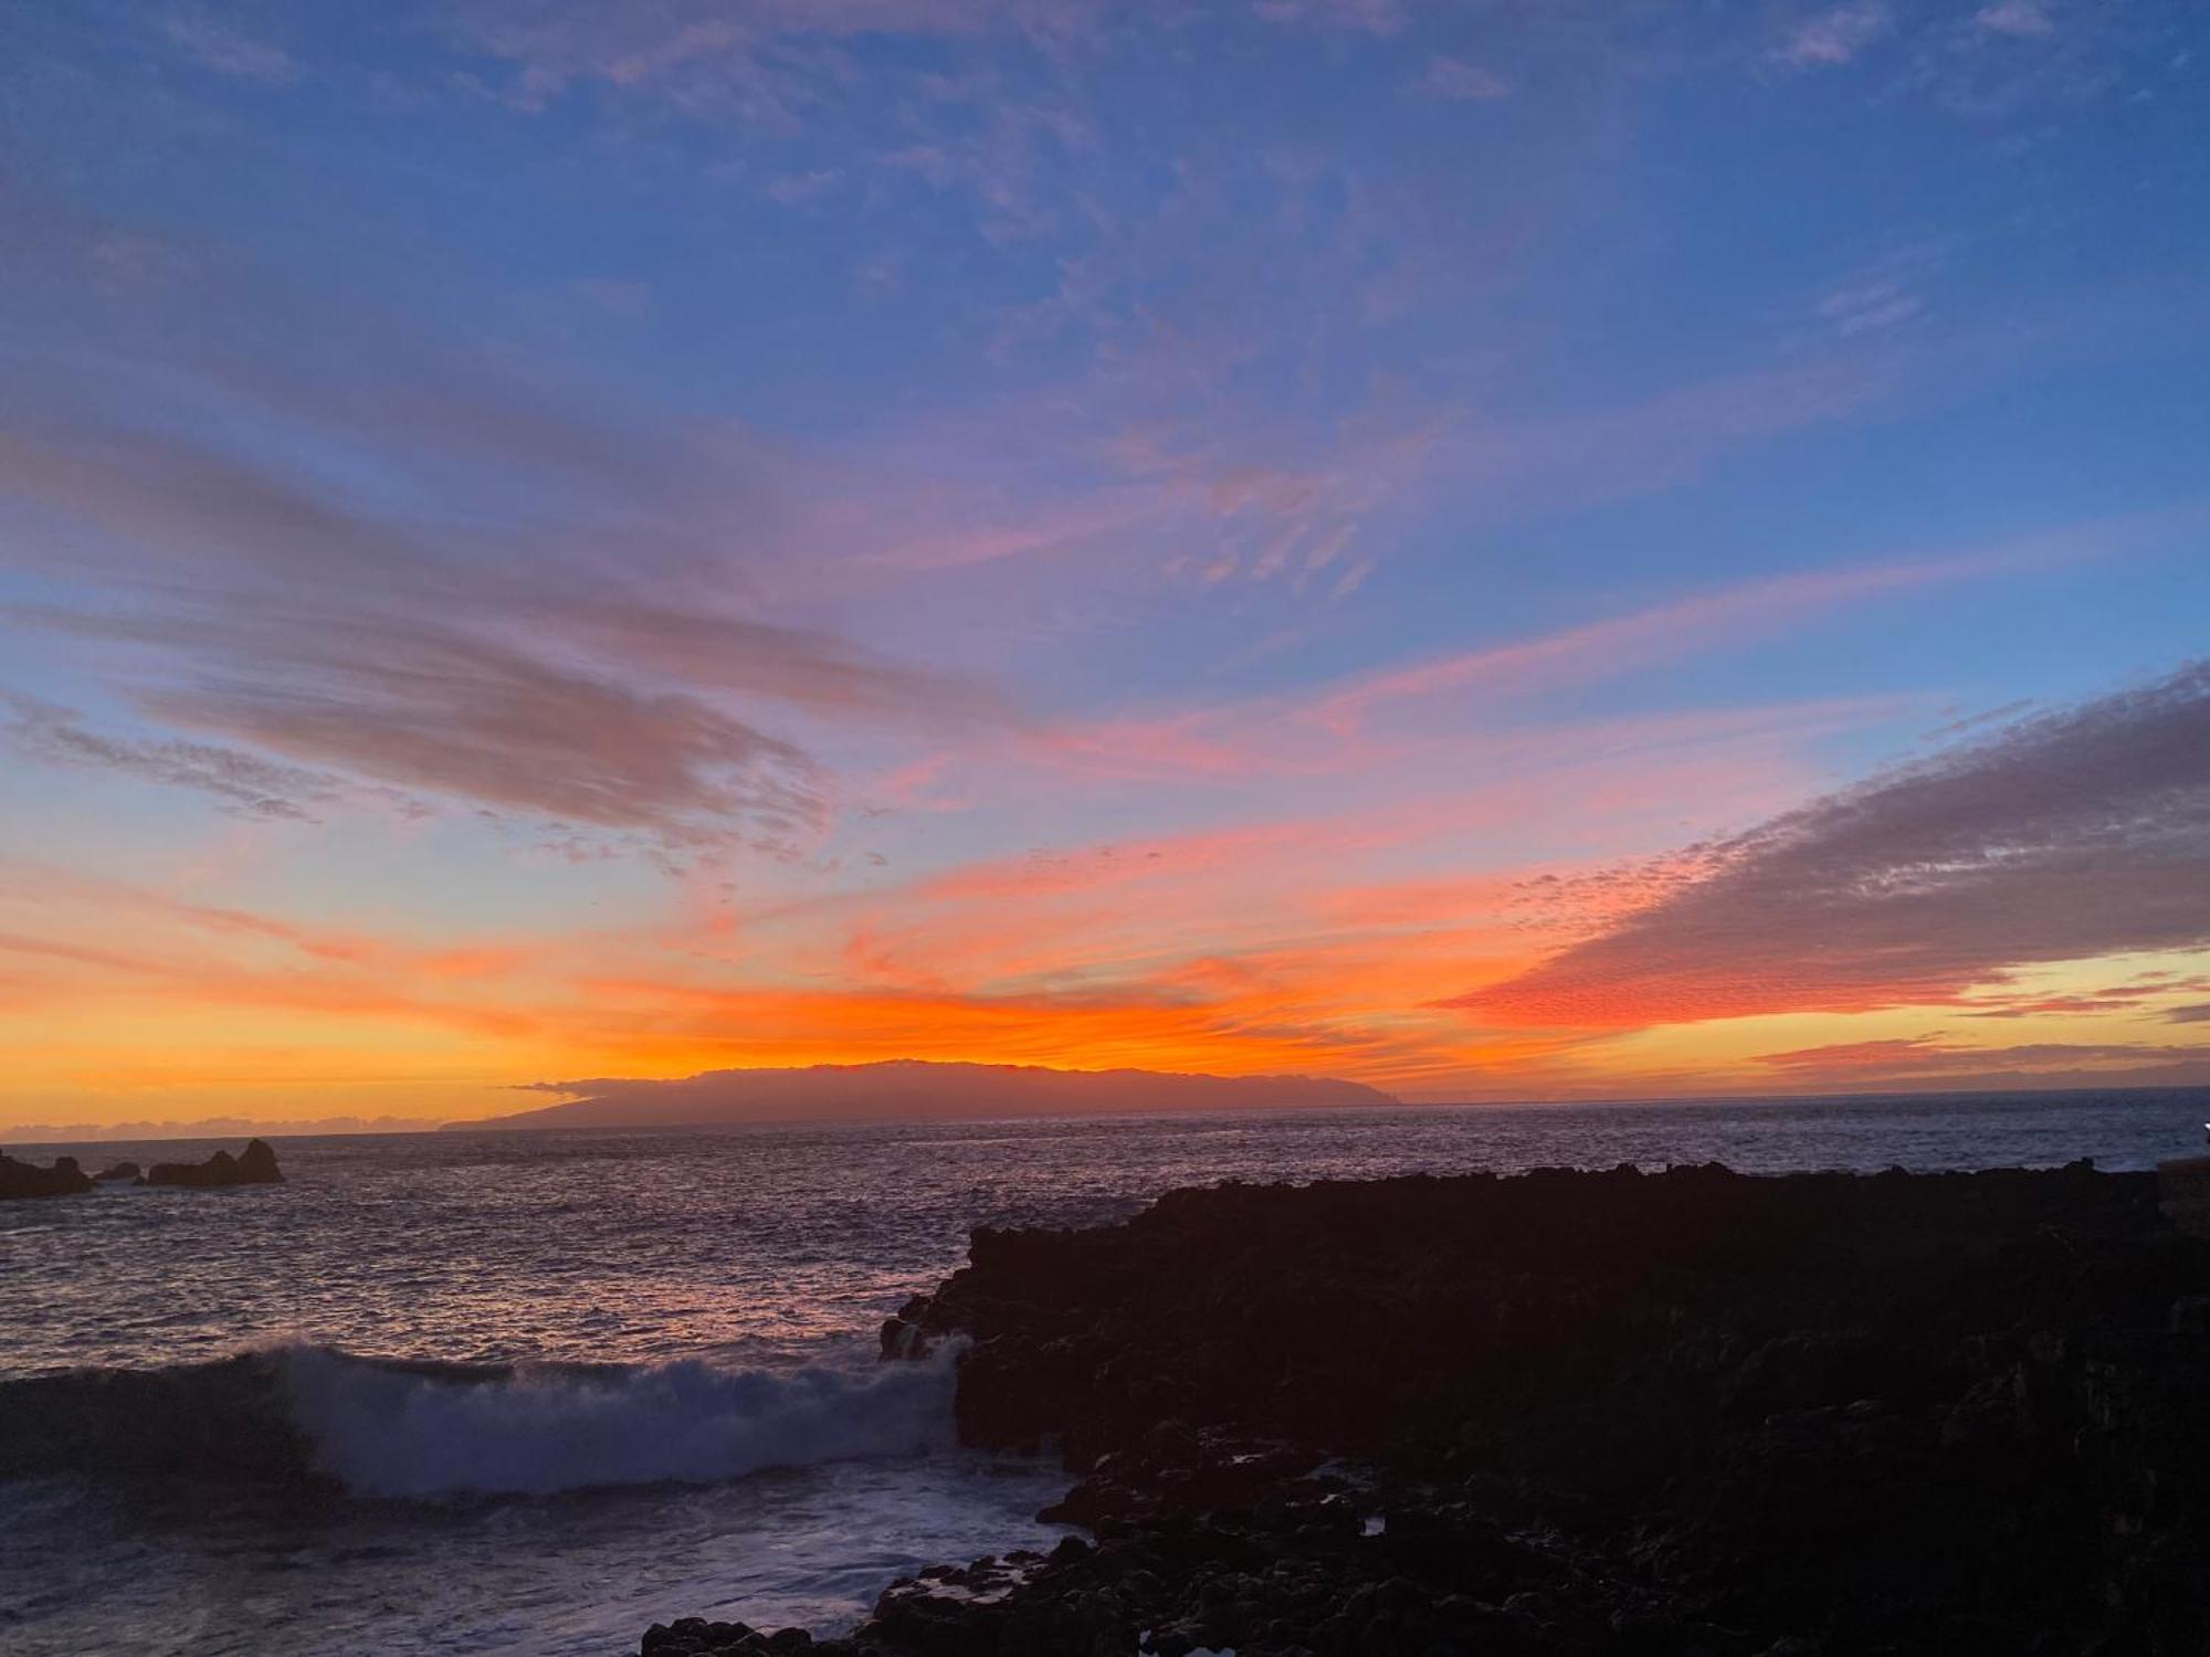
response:
[[[0,1374],[278,1341],[787,1363],[933,1286],[975,1224],[1085,1224],[1178,1184],[1704,1160],[2141,1169],[2190,1153],[2201,1120],[2203,1094],[2175,1091],[281,1140],[281,1186],[0,1204]],[[55,1151],[155,1147],[40,1147]]]

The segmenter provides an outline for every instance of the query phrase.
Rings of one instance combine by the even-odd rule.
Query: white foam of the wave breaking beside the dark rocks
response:
[[[314,1463],[358,1496],[546,1496],[709,1482],[953,1443],[953,1357],[787,1374],[705,1363],[522,1368],[455,1381],[287,1354]]]

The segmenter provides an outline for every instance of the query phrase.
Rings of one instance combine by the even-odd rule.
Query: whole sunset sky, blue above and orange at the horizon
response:
[[[0,9],[0,1129],[2210,1083],[2183,0]]]

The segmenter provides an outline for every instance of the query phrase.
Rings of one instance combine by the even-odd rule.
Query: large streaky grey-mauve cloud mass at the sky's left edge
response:
[[[1006,718],[977,680],[747,614],[787,524],[767,506],[778,484],[732,466],[754,451],[725,435],[599,442],[486,373],[418,404],[373,371],[314,398],[252,360],[161,367],[197,426],[128,409],[130,376],[86,378],[38,415],[0,400],[0,502],[38,526],[11,563],[57,597],[0,621],[88,641],[166,727],[99,733],[20,700],[9,736],[29,758],[259,817],[382,789],[663,859],[791,855],[827,804],[815,756],[778,722]],[[33,360],[20,389],[40,384]],[[241,418],[294,442],[234,446],[221,433]],[[517,513],[517,484],[546,508]]]

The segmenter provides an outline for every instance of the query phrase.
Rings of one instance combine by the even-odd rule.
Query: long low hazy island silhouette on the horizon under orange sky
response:
[[[449,1129],[698,1127],[804,1118],[1103,1116],[1397,1105],[1395,1094],[1330,1076],[1182,1076],[1156,1069],[1048,1069],[891,1058],[804,1069],[709,1069],[674,1080],[530,1083],[570,1094],[513,1116]]]

